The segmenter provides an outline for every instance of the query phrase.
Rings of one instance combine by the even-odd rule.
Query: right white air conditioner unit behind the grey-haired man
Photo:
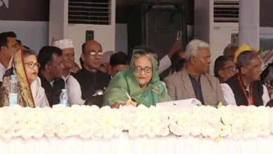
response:
[[[239,0],[195,0],[195,38],[211,48],[211,73],[215,59],[229,43],[238,41]]]

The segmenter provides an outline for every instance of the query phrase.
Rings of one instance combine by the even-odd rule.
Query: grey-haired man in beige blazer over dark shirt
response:
[[[209,75],[211,54],[209,44],[193,40],[186,47],[186,67],[165,78],[172,99],[199,99],[202,104],[215,106],[225,104],[218,78]]]

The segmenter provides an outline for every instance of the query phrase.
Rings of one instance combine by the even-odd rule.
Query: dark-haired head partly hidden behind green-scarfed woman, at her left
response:
[[[129,68],[129,58],[124,52],[116,52],[110,57],[109,73],[113,78],[119,71],[125,71]]]

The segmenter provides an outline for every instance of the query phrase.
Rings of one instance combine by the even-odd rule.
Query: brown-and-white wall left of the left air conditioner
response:
[[[0,0],[0,32],[14,31],[32,50],[48,45],[49,0]]]

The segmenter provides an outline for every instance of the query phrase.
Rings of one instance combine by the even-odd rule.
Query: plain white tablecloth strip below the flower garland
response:
[[[110,140],[89,140],[71,137],[67,139],[0,139],[0,153],[246,153],[272,154],[273,136],[232,140],[199,139],[195,137],[139,137],[122,134]]]

